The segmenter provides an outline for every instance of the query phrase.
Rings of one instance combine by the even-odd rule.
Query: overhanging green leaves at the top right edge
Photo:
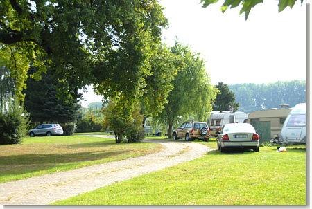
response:
[[[299,0],[279,0],[279,12],[283,11],[286,7],[293,8],[296,1]],[[218,0],[200,0],[200,3],[203,3],[203,7],[209,6],[211,3],[216,3]],[[300,0],[303,3],[303,0]],[[224,13],[227,8],[236,8],[241,5],[241,11],[239,14],[245,12],[245,19],[248,19],[250,10],[256,6],[258,3],[263,3],[263,0],[225,0],[221,6],[221,11]]]

